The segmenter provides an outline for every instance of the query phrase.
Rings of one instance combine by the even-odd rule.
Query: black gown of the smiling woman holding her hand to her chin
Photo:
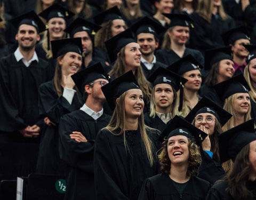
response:
[[[63,91],[63,88],[62,88]],[[82,100],[82,97],[79,98]],[[59,122],[60,117],[78,110],[83,105],[78,100],[77,93],[74,94],[71,105],[55,91],[53,81],[43,83],[39,87],[39,109],[43,117],[48,117],[54,125],[45,124],[39,145],[37,160],[37,173],[42,174],[64,174],[65,167],[59,155]]]

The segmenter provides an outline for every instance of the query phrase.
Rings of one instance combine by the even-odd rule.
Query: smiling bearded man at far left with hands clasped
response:
[[[1,174],[7,179],[35,170],[39,143],[36,138],[43,125],[38,87],[50,79],[50,66],[35,52],[44,23],[32,11],[12,19],[11,23],[18,28],[15,36],[18,48],[0,61],[0,131],[3,133],[0,135],[4,137],[0,151],[8,158],[2,162],[6,169]]]

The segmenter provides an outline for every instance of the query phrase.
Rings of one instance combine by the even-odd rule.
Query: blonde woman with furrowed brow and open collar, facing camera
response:
[[[177,92],[187,79],[165,68],[157,68],[149,77],[153,83],[150,97],[150,112],[145,114],[145,124],[163,131],[166,124],[179,114]]]

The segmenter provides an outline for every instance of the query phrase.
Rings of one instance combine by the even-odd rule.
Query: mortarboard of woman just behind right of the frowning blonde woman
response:
[[[186,55],[186,57],[181,58],[180,60],[172,63],[167,69],[173,71],[180,76],[186,73],[187,71],[203,68],[202,65],[191,55]]]

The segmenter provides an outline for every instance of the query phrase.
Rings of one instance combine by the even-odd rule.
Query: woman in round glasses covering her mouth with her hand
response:
[[[204,156],[198,176],[212,184],[225,175],[225,171],[220,164],[218,135],[223,132],[222,126],[230,117],[231,114],[226,110],[210,99],[203,97],[185,118],[208,134],[202,142]]]

